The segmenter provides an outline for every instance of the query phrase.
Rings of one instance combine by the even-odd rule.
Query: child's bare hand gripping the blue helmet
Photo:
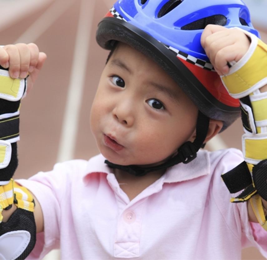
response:
[[[250,47],[250,40],[240,30],[208,25],[201,36],[201,45],[219,75],[229,72],[227,62],[239,61]]]

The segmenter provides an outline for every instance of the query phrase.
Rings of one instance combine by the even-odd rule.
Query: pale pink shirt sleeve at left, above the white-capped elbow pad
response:
[[[59,248],[62,217],[67,217],[62,215],[70,201],[71,178],[79,178],[84,166],[82,160],[58,163],[52,171],[39,172],[28,180],[16,180],[35,195],[44,218],[44,232],[37,234],[35,248],[27,259],[42,259]]]

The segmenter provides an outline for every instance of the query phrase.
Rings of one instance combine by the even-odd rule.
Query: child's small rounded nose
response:
[[[134,114],[131,109],[130,104],[127,102],[121,102],[118,104],[112,111],[112,114],[115,120],[119,123],[124,124],[127,127],[130,127],[134,123]]]

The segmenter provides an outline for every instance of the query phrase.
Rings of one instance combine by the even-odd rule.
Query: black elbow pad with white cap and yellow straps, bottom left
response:
[[[25,259],[36,241],[36,226],[33,216],[34,200],[31,193],[13,180],[3,187],[1,206],[12,205],[17,209],[7,222],[0,223],[0,259]],[[9,195],[8,198],[6,197]]]

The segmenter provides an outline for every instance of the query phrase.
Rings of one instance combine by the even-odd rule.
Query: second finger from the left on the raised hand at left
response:
[[[18,78],[20,71],[19,51],[15,45],[6,45],[3,48],[9,56],[9,75],[12,78]]]

